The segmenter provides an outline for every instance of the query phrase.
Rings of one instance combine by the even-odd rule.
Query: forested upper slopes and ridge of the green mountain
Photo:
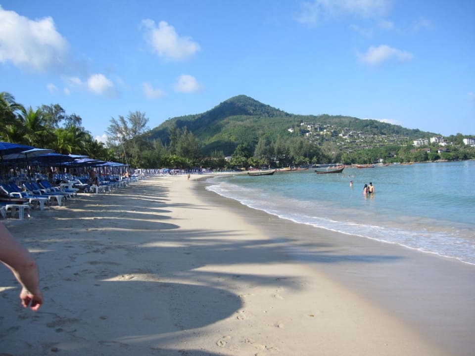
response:
[[[238,95],[202,114],[171,118],[150,130],[151,139],[168,144],[169,129],[187,127],[202,144],[202,152],[209,155],[218,150],[231,155],[239,143],[254,147],[262,136],[270,139],[290,138],[301,130],[301,123],[335,126],[364,134],[401,135],[410,139],[434,136],[420,130],[405,129],[377,120],[362,120],[349,116],[295,115],[263,104],[249,96]],[[294,128],[294,133],[288,131]]]

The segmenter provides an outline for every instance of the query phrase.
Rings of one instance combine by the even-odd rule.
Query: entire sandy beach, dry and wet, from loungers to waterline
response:
[[[1,267],[0,355],[473,352],[473,266],[315,236],[205,184],[149,178],[3,220],[37,260],[45,304],[23,309]]]

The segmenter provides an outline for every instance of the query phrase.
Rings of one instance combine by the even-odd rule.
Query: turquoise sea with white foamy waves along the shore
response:
[[[376,193],[363,195],[370,181]],[[295,223],[475,265],[475,161],[237,174],[208,183],[208,190]]]

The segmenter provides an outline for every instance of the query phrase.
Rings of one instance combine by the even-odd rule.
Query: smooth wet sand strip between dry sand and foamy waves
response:
[[[453,355],[471,355],[475,349],[471,330],[475,328],[474,264],[417,249],[296,223],[205,189],[221,204],[245,214],[251,224],[265,224],[269,238],[279,239],[283,230],[288,249],[301,263],[311,265],[358,293],[366,300],[391,311],[423,334],[431,343]],[[252,213],[246,210],[253,211]],[[258,217],[258,218],[257,218]],[[253,221],[255,219],[255,221]],[[292,238],[299,231],[298,238]],[[317,239],[312,235],[317,235]],[[303,237],[303,239],[302,239]],[[318,244],[323,247],[320,254]],[[302,247],[304,246],[304,247]],[[309,254],[312,246],[314,256]],[[330,252],[330,249],[337,249]],[[374,270],[376,267],[377,270]]]

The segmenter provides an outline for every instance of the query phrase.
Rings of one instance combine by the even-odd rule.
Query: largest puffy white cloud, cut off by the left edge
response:
[[[62,65],[68,51],[51,17],[30,20],[0,6],[0,62],[43,72]]]

